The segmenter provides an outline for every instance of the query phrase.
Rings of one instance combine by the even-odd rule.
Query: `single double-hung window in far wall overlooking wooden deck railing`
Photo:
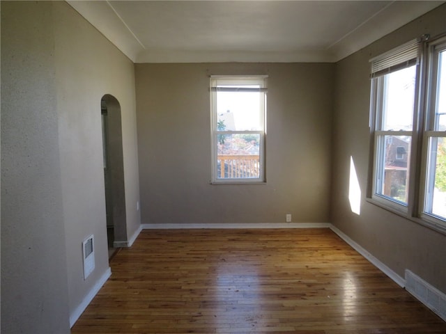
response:
[[[212,76],[212,182],[265,182],[266,76]]]

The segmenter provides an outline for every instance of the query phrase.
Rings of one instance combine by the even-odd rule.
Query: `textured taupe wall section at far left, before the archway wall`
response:
[[[70,333],[52,15],[1,1],[1,333]]]

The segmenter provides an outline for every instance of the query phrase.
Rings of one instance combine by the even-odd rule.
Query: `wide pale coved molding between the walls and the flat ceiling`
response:
[[[295,51],[186,51],[146,49],[109,1],[67,1],[134,63],[336,63],[445,1],[392,1],[327,49]]]

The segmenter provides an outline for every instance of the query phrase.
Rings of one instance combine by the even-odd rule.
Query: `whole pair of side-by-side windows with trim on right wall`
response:
[[[371,60],[367,197],[446,233],[446,37]]]

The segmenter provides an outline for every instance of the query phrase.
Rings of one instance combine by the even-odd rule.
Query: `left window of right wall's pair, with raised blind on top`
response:
[[[371,60],[372,197],[403,211],[408,205],[410,152],[416,131],[419,45],[409,42]]]

